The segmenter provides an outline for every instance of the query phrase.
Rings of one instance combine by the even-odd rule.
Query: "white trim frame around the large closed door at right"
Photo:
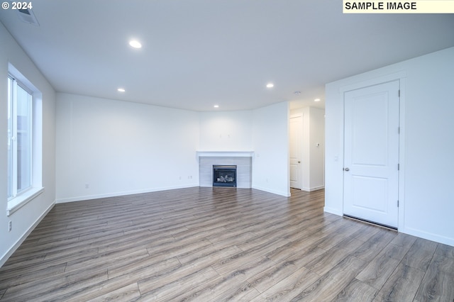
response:
[[[386,82],[392,82],[398,80],[400,83],[400,102],[399,102],[399,130],[400,130],[400,135],[399,135],[399,214],[398,214],[398,226],[397,230],[402,230],[404,229],[404,218],[405,218],[405,96],[406,96],[406,72],[395,72],[392,74],[387,74],[382,77],[376,77],[372,78],[366,81],[358,82],[355,84],[349,84],[342,86],[339,89],[339,93],[342,94],[342,101],[344,100],[344,95],[345,92],[351,91],[351,90],[356,90],[356,89],[361,89],[365,88],[367,86],[375,86],[378,84],[383,84]],[[342,104],[342,107],[345,108],[345,104]],[[341,131],[341,152],[342,154],[339,156],[339,158],[344,158],[344,131],[343,129],[345,128],[345,122],[342,119],[342,131]],[[342,186],[343,184],[343,178],[342,178]],[[341,197],[342,199],[342,215],[343,215],[343,196]]]

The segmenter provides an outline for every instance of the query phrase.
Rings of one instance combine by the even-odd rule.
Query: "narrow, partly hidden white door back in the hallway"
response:
[[[290,187],[301,189],[301,150],[303,135],[303,117],[290,118]]]

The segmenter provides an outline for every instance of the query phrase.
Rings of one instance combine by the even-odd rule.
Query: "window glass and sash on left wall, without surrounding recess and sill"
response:
[[[32,94],[8,77],[8,198],[31,188]]]

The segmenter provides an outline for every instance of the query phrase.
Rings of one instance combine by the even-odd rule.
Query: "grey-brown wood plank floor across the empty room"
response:
[[[57,204],[0,268],[0,301],[454,300],[454,247],[323,213],[323,194]]]

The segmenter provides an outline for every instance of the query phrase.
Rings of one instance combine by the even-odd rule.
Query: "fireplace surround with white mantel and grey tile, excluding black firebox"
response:
[[[213,186],[213,165],[236,165],[236,187],[252,187],[252,151],[198,151],[200,186]]]

